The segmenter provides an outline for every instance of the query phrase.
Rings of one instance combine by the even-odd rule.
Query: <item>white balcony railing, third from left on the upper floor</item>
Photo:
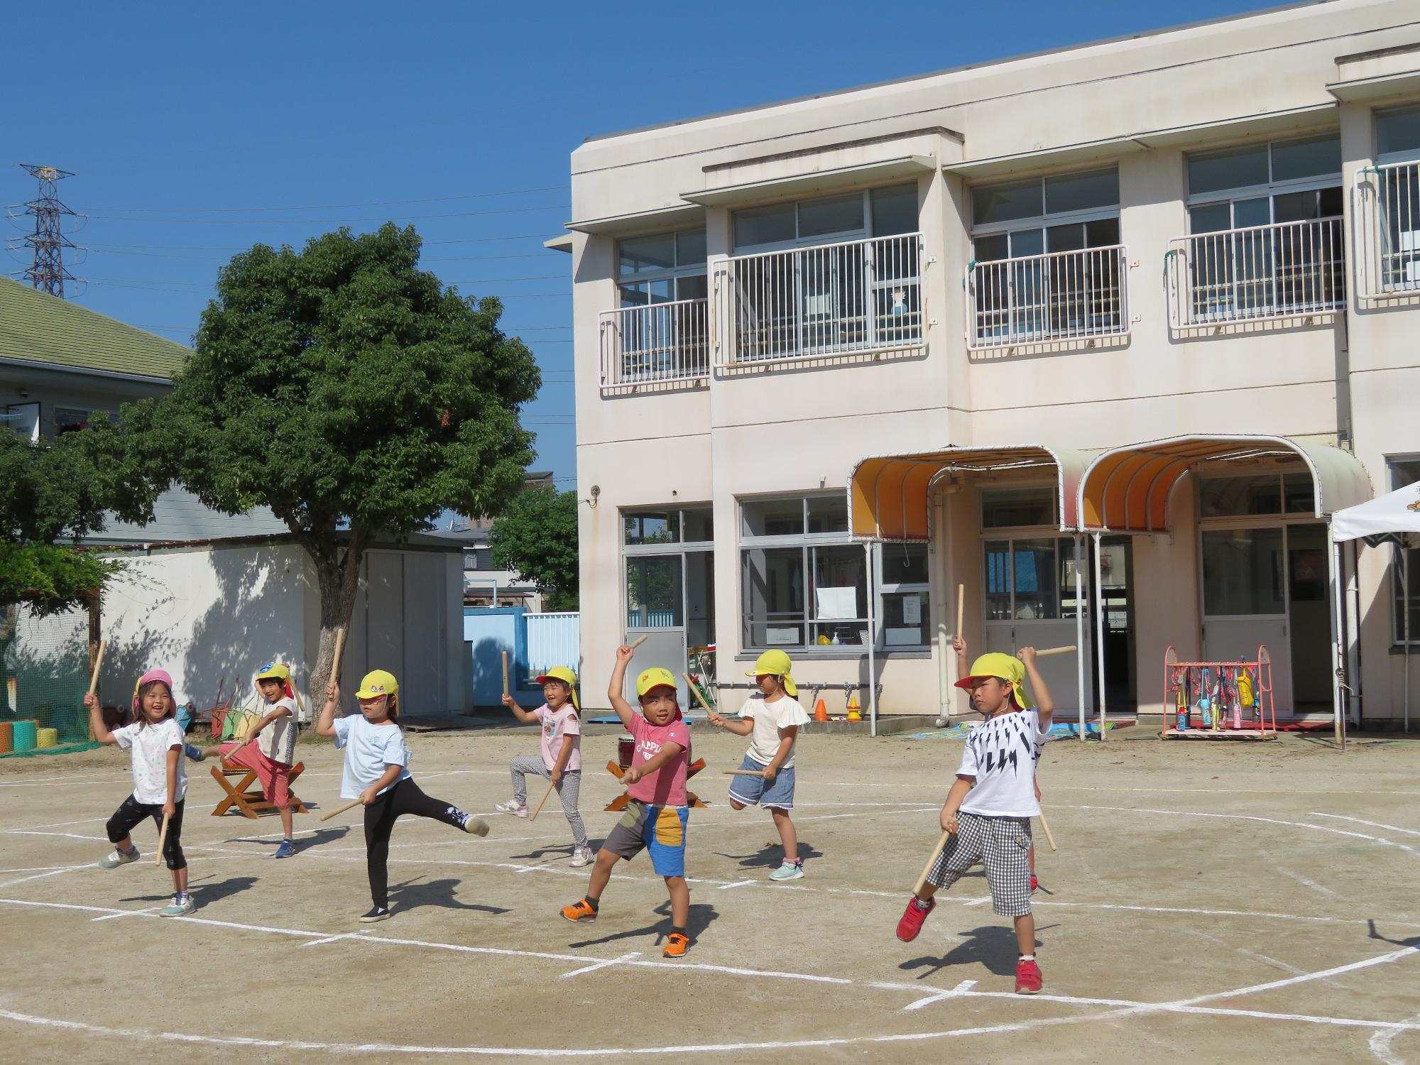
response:
[[[1129,335],[1127,258],[1123,244],[1112,244],[971,263],[967,346]]]

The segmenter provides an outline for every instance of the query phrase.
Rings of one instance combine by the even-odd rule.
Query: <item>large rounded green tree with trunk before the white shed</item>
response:
[[[311,555],[321,592],[314,690],[348,626],[376,537],[444,510],[496,513],[523,487],[541,383],[532,354],[471,300],[419,268],[392,223],[256,244],[222,268],[170,395],[124,409],[155,480],[239,514],[266,504]]]

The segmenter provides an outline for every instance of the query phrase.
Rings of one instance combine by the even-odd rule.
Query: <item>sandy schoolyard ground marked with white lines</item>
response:
[[[425,791],[490,819],[477,839],[405,819],[396,916],[369,907],[358,811],[213,818],[193,765],[187,849],[199,909],[163,919],[145,861],[105,872],[104,821],[128,794],[114,750],[0,763],[0,1059],[315,1062],[665,1054],[679,1061],[1420,1061],[1420,746],[1345,754],[1274,744],[1051,743],[1041,785],[1059,851],[1039,843],[1045,993],[1012,993],[1010,923],[984,876],[961,880],[922,937],[893,927],[936,842],[960,740],[807,737],[807,878],[767,880],[765,814],[736,814],[720,770],[744,741],[696,728],[709,809],[690,821],[692,933],[663,961],[666,892],[621,863],[592,926],[552,801],[535,824],[493,815],[506,763],[535,733],[412,736]],[[582,811],[594,843],[618,794],[592,728]],[[339,763],[302,744],[297,787],[338,805]],[[537,791],[534,791],[537,794]]]

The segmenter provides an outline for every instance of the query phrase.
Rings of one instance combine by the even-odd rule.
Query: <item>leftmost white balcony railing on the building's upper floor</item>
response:
[[[602,388],[704,378],[710,372],[704,300],[604,311]]]

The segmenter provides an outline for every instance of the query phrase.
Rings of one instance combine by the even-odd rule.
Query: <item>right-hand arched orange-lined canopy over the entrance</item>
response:
[[[1285,436],[1174,436],[1100,453],[1081,479],[1081,528],[1163,532],[1170,525],[1169,496],[1196,463],[1264,457],[1306,463],[1318,518],[1370,498],[1365,467],[1339,447]]]

